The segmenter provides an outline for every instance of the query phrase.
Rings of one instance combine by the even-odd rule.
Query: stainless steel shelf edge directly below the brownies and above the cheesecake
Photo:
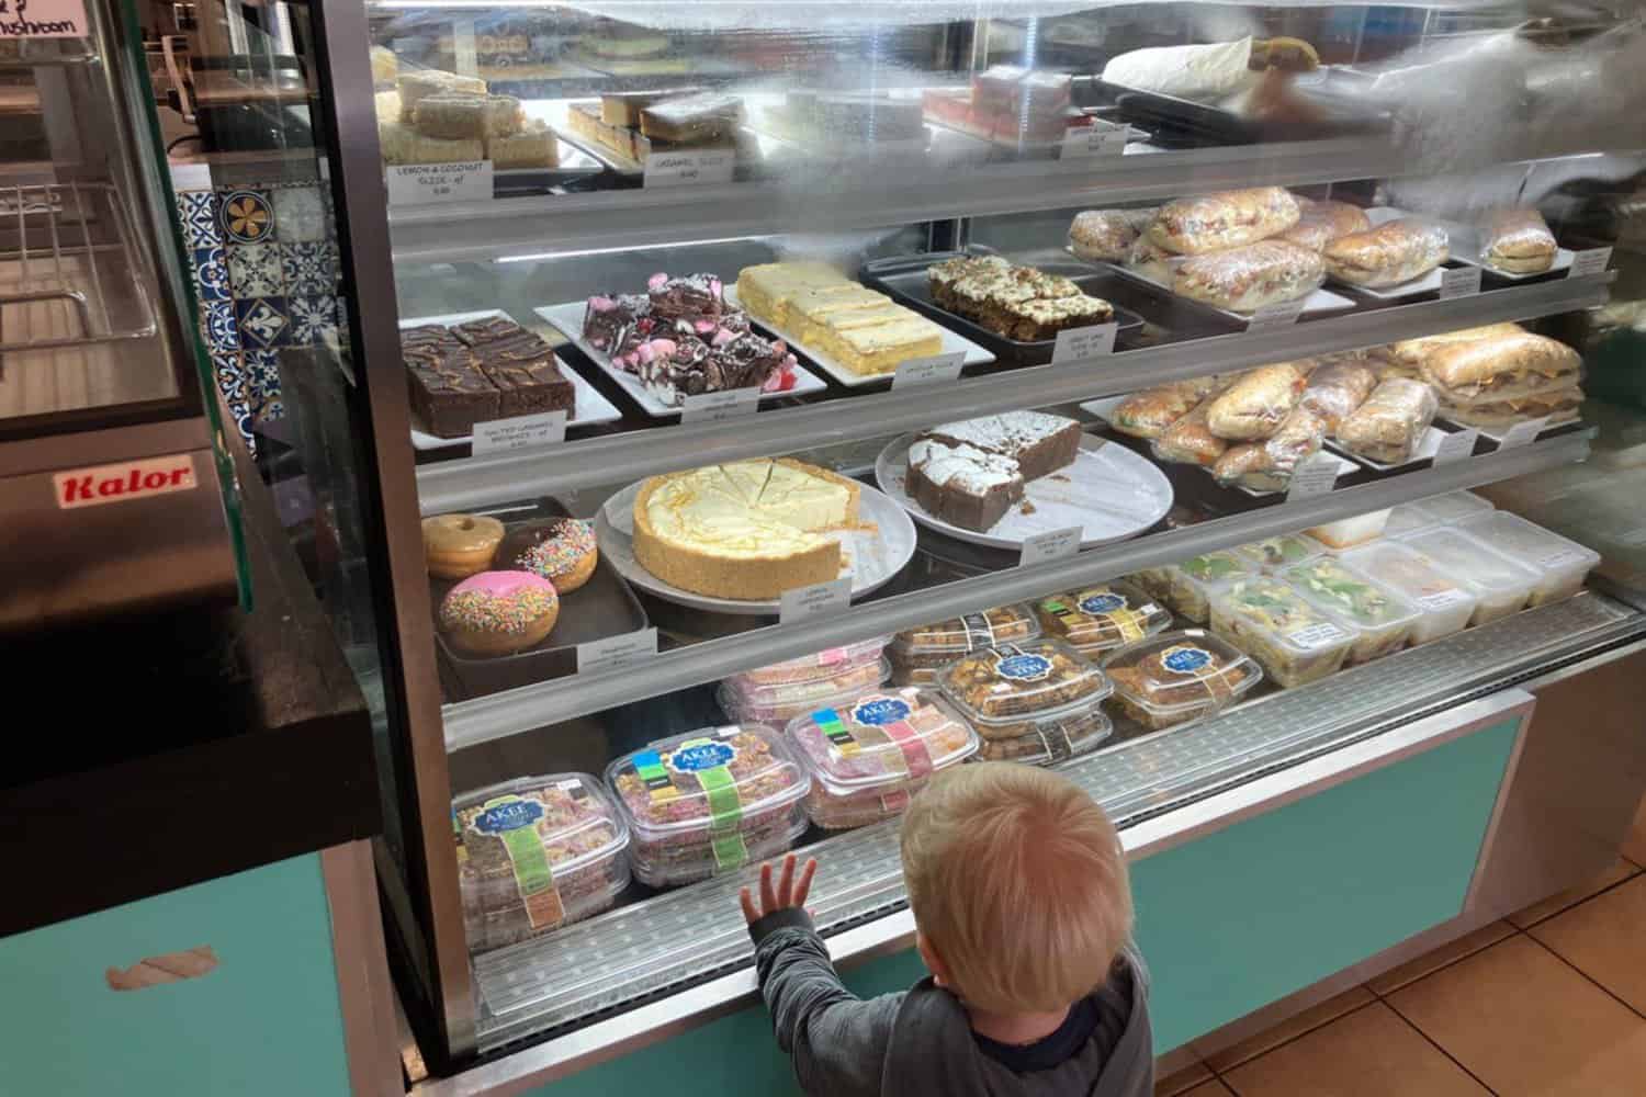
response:
[[[660,428],[571,442],[558,451],[520,451],[421,465],[418,502],[425,515],[474,510],[505,500],[556,495],[581,487],[625,484],[693,465],[795,452],[858,437],[1007,408],[1045,408],[1111,396],[1169,380],[1203,377],[1267,362],[1371,347],[1498,321],[1532,319],[1606,303],[1613,273],[1560,278],[1493,289],[1448,301],[1353,312],[1266,332],[1236,332],[1128,350],[1101,359],[1007,370],[905,391],[831,400],[762,411],[726,423]]]

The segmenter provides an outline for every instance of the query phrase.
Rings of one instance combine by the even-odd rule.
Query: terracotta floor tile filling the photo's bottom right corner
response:
[[[1646,1020],[1531,937],[1388,1002],[1503,1097],[1639,1097],[1646,1079]]]

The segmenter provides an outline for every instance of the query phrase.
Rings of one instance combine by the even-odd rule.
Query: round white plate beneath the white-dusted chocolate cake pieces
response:
[[[1164,472],[1124,446],[1081,434],[1075,464],[1024,487],[1024,500],[1034,505],[1034,513],[1025,515],[1019,503],[988,531],[978,533],[928,515],[910,498],[909,447],[915,437],[904,434],[881,451],[874,482],[915,521],[960,541],[1021,549],[1024,539],[1037,533],[1080,526],[1080,546],[1095,548],[1137,536],[1172,508],[1172,482]]]

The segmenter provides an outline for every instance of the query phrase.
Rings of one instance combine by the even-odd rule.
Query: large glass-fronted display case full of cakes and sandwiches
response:
[[[907,951],[945,766],[1142,857],[1626,658],[1643,39],[1579,7],[273,5],[438,1072],[686,1054],[790,847],[839,959]]]

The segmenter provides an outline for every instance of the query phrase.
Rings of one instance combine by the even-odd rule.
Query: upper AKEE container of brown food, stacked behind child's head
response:
[[[938,684],[976,725],[1050,719],[1111,689],[1086,656],[1044,638],[961,656],[938,674]]]

